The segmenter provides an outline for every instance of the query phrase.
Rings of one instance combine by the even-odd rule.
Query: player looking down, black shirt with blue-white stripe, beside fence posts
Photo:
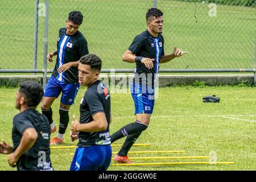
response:
[[[80,11],[69,13],[66,27],[60,28],[59,31],[57,50],[47,55],[48,63],[51,63],[53,61],[52,57],[57,55],[56,65],[52,76],[47,82],[41,104],[42,113],[46,115],[51,124],[51,133],[56,131],[56,126],[52,119],[51,105],[59,97],[60,92],[62,92],[59,109],[59,133],[51,140],[51,144],[64,142],[63,135],[69,122],[68,111],[75,101],[80,86],[77,70],[79,59],[89,53],[86,39],[79,31],[82,18],[83,16]]]

